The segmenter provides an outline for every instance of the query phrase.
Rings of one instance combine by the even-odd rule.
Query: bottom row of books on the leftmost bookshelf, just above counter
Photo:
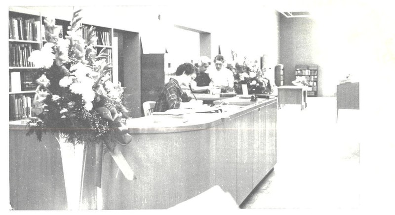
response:
[[[9,120],[35,117],[32,112],[34,95],[9,95]]]

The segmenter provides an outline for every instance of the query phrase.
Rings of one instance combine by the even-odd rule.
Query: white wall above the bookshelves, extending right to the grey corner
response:
[[[28,6],[26,6],[28,7]],[[72,6],[34,6],[44,16],[71,19]],[[258,60],[266,55],[269,67],[274,69],[278,60],[279,15],[274,9],[263,5],[230,4],[218,6],[195,5],[149,5],[149,6],[79,6],[83,22],[92,25],[112,27],[119,30],[138,32],[140,36],[155,32],[166,45],[168,32],[155,31],[158,15],[162,28],[180,25],[211,33],[211,58],[218,54],[218,46],[228,62],[231,50],[240,58]],[[170,29],[171,30],[171,29]],[[196,33],[197,34],[197,33]],[[198,35],[196,35],[198,40]],[[143,37],[143,36],[142,36]],[[182,38],[179,39],[180,42]],[[176,49],[176,48],[173,48]],[[180,49],[180,48],[178,48]],[[198,50],[198,49],[197,49]],[[169,52],[170,53],[170,52]],[[269,74],[269,76],[274,76]]]

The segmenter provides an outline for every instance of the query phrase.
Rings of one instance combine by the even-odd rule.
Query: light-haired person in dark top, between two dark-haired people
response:
[[[210,66],[211,60],[207,56],[201,56],[195,66],[197,67],[197,77],[191,82],[192,92],[208,93],[211,79],[205,71]]]

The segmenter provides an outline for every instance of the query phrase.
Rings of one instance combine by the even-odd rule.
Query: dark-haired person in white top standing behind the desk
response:
[[[208,75],[210,76],[210,86],[221,87],[221,91],[227,88],[233,88],[235,84],[235,78],[233,72],[224,66],[225,59],[222,55],[214,57],[214,67],[208,69]]]

